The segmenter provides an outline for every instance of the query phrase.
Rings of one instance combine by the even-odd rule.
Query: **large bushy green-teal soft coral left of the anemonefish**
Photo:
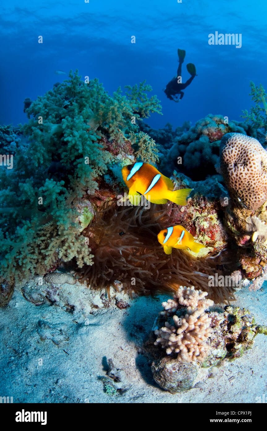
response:
[[[120,89],[110,97],[97,79],[86,84],[70,72],[28,104],[22,128],[28,141],[16,145],[13,169],[0,170],[0,276],[43,275],[58,259],[92,263],[77,206],[83,195],[95,193],[109,168],[123,164],[130,144],[121,130],[138,131],[132,116],[160,110],[146,90],[143,83],[129,88],[129,98]]]

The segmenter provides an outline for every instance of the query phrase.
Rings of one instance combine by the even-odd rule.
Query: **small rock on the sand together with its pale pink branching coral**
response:
[[[196,384],[201,375],[213,377],[225,360],[239,358],[251,348],[257,334],[267,335],[267,327],[257,325],[249,310],[234,306],[214,309],[212,304],[193,286],[180,286],[173,299],[163,302],[154,335],[144,344],[153,360],[154,380],[172,394],[201,387],[201,381]]]

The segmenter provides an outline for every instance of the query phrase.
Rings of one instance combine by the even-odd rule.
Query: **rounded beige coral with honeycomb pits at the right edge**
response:
[[[220,170],[235,198],[248,209],[267,200],[267,152],[257,139],[241,133],[227,133],[221,139]]]

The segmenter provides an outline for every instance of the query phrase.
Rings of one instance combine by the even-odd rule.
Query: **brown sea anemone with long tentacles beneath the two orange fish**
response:
[[[99,212],[83,231],[94,253],[94,264],[78,271],[80,281],[91,288],[109,290],[121,281],[130,294],[175,291],[182,284],[205,290],[216,302],[234,299],[231,287],[210,287],[219,259],[196,259],[184,250],[167,256],[157,240],[160,230],[172,222],[171,206],[123,207],[117,203]]]

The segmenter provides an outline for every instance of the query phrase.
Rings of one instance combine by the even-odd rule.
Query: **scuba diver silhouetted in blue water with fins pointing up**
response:
[[[191,77],[187,79],[185,84],[179,83],[181,80],[181,72],[182,72],[182,63],[184,62],[185,57],[185,50],[179,50],[178,49],[178,62],[179,66],[177,69],[177,76],[172,78],[171,81],[166,85],[166,88],[164,93],[168,97],[168,99],[173,100],[174,102],[179,102],[184,97],[184,90],[186,87],[188,87],[189,84],[193,81],[196,75],[196,66],[193,63],[188,63],[186,65],[187,71],[190,73]],[[178,94],[180,94],[180,98],[178,97]],[[174,96],[174,97],[172,97]]]

